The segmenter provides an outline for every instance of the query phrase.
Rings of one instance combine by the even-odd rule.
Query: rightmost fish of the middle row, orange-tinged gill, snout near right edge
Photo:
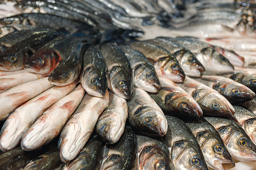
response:
[[[255,93],[250,88],[223,76],[203,75],[201,78],[195,78],[195,80],[218,91],[231,104],[239,104],[255,98]]]

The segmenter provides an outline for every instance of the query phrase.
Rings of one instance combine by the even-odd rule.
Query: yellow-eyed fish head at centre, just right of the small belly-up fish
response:
[[[163,137],[167,133],[167,120],[164,114],[152,107],[140,107],[134,112],[135,128],[144,134]]]

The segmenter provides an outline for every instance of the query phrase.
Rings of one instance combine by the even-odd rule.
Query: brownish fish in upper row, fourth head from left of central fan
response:
[[[159,75],[166,76],[176,83],[183,82],[185,73],[177,59],[166,49],[143,41],[131,42],[130,46],[144,54],[155,67]]]

